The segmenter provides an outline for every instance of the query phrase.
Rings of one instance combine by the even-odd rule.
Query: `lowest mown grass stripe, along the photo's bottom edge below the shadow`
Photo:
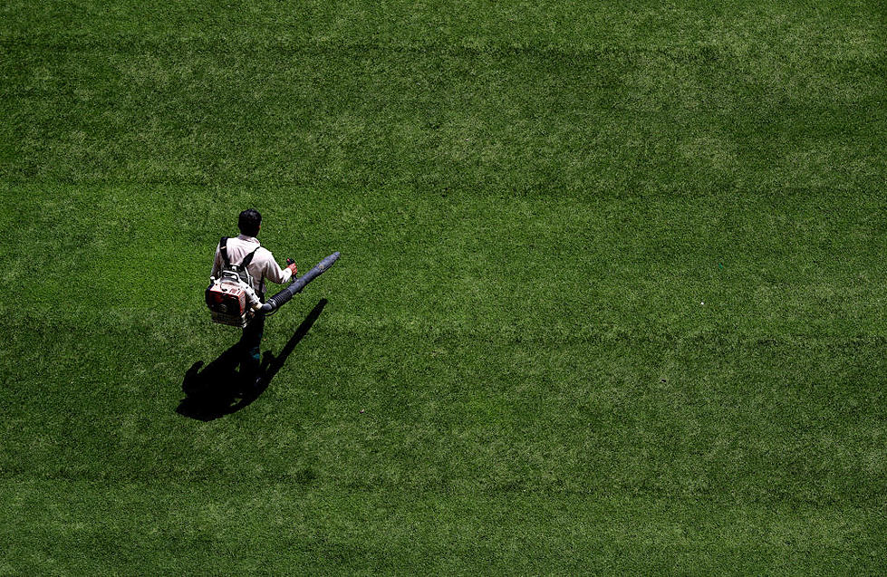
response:
[[[5,572],[881,572],[857,507],[292,486],[5,485]],[[61,495],[67,495],[63,500]],[[98,520],[97,520],[98,519]],[[52,543],[52,544],[50,544]],[[532,554],[526,554],[532,552]]]

